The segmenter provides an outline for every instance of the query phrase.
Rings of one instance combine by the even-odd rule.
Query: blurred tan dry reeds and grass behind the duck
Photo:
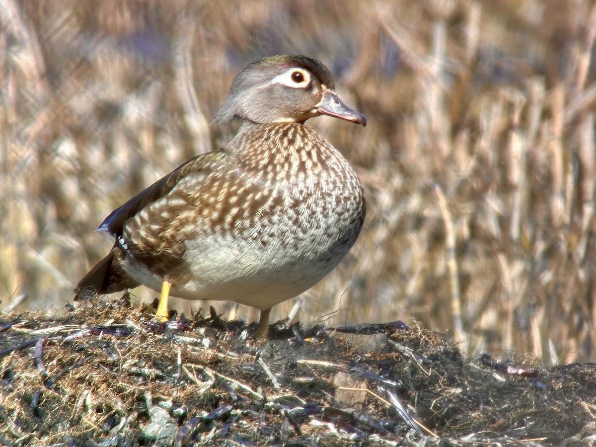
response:
[[[309,121],[368,216],[299,318],[414,318],[468,355],[596,360],[592,2],[0,0],[0,23],[5,310],[72,299],[111,247],[103,218],[229,138],[209,121],[246,63],[299,52],[369,123]]]

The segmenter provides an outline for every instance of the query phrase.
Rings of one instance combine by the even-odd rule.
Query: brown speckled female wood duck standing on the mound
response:
[[[355,243],[365,216],[362,184],[344,157],[305,125],[321,114],[366,125],[331,73],[303,55],[250,63],[214,122],[238,120],[225,147],[182,164],[115,209],[97,231],[116,240],[77,284],[111,293],[140,284],[169,295],[230,300],[260,309],[318,283]]]

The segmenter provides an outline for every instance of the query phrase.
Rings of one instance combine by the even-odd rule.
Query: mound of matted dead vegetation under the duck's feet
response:
[[[215,313],[153,311],[124,296],[2,321],[0,442],[596,445],[594,365],[468,361],[399,323],[279,324],[253,342]]]

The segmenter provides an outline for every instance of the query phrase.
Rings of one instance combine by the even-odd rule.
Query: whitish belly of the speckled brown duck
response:
[[[347,228],[345,224],[349,222],[336,222],[333,229],[311,224],[310,231],[283,232],[281,227],[288,227],[280,222],[269,227],[273,236],[265,244],[260,237],[240,240],[233,234],[187,241],[185,257],[193,277],[173,284],[170,294],[271,308],[308,290],[336,267],[359,232],[359,223],[351,222]],[[126,269],[139,283],[161,290],[163,278],[141,263],[129,259]]]

